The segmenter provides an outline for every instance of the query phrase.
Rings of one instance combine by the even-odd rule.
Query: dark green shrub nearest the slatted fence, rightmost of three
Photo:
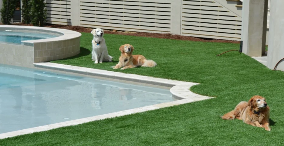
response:
[[[43,26],[46,22],[46,3],[45,0],[32,0],[32,25]]]

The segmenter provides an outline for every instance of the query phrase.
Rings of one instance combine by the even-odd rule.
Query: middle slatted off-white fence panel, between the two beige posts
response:
[[[80,26],[169,33],[172,0],[80,0]]]

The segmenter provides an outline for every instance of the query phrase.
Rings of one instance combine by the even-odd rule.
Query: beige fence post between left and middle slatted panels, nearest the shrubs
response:
[[[71,25],[79,26],[80,21],[80,1],[72,0],[71,1]]]

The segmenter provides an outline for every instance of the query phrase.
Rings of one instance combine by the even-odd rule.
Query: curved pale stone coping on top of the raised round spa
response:
[[[29,41],[22,41],[22,43],[27,44],[37,44],[43,42],[54,42],[54,41],[64,41],[70,40],[73,38],[80,37],[82,34],[77,31],[71,31],[67,29],[60,29],[60,28],[47,28],[47,27],[36,27],[36,26],[20,26],[20,25],[0,25],[0,30],[8,29],[8,30],[15,30],[15,31],[29,31],[31,33],[41,32],[46,34],[55,34],[58,37],[47,38],[47,39],[40,39],[40,40],[29,40]]]

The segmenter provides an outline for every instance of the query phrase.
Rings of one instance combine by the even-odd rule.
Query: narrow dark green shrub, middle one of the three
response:
[[[32,21],[31,10],[31,0],[22,0],[22,18],[25,24],[30,24]]]

